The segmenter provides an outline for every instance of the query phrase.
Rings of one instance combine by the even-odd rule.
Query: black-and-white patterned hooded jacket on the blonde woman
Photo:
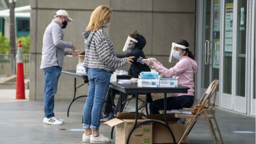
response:
[[[88,69],[101,69],[113,73],[116,68],[127,64],[126,58],[117,58],[113,43],[108,39],[104,30],[94,32],[85,30],[82,34],[85,38],[84,67]]]

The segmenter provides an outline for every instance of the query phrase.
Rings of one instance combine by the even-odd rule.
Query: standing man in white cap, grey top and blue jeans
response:
[[[66,28],[72,19],[65,10],[58,10],[54,20],[47,26],[43,37],[42,62],[44,70],[44,120],[46,124],[61,125],[64,120],[54,116],[54,95],[57,92],[58,80],[66,55],[77,56],[79,50],[71,42],[63,40],[62,28]],[[72,50],[65,50],[72,48]]]

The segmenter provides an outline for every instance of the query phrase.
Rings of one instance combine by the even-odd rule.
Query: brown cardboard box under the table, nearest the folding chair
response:
[[[168,121],[168,125],[170,129],[172,130],[176,142],[180,140],[181,136],[183,135],[184,131],[186,130],[187,124],[190,122],[190,119],[186,119],[184,124],[175,124],[175,122],[179,118],[175,118],[173,114],[166,114],[166,118]],[[161,120],[164,122],[164,114],[151,114],[147,116],[147,119],[153,119],[153,120]],[[162,125],[160,124],[153,124],[153,130],[152,130],[152,143],[153,144],[172,144],[172,136],[170,132]],[[182,140],[183,143],[187,143],[188,139],[187,136]]]

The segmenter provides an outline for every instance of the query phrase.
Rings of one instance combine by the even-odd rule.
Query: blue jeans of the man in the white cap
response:
[[[44,68],[44,116],[46,118],[54,116],[54,95],[57,92],[61,70],[59,66]]]

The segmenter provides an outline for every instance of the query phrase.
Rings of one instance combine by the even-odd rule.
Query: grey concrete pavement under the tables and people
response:
[[[42,122],[44,118],[42,101],[15,100],[15,90],[0,91],[0,144],[85,144],[82,142],[82,131],[70,131],[70,129],[82,129],[85,98],[72,104],[69,117],[66,116],[69,101],[56,101],[55,115],[63,118],[65,123],[53,126]],[[134,105],[134,100],[131,103]],[[255,132],[254,116],[220,108],[215,110],[225,144],[255,144],[255,133],[234,133],[234,131]],[[106,124],[100,125],[100,132],[109,138],[110,131],[111,127]],[[220,140],[218,142],[220,143]],[[112,140],[112,144],[114,143],[115,140]],[[188,143],[212,144],[206,122],[196,123],[188,136]]]

